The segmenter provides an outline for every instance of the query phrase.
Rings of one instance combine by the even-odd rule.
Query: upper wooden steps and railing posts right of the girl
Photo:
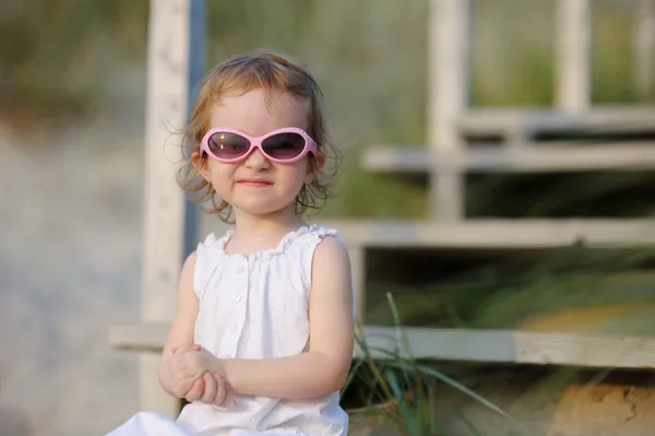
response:
[[[361,166],[389,177],[426,175],[426,221],[329,223],[350,246],[359,316],[364,314],[366,250],[377,247],[556,248],[655,246],[655,220],[480,220],[464,211],[466,176],[484,173],[636,172],[655,168],[655,106],[591,103],[590,0],[558,0],[557,89],[552,108],[468,106],[472,3],[431,0],[427,144],[377,144]],[[655,63],[655,1],[635,13],[639,64]],[[650,17],[650,19],[647,19]],[[647,55],[650,54],[650,55]],[[644,67],[645,68],[645,67]]]

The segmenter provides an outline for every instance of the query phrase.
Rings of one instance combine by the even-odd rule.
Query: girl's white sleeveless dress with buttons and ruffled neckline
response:
[[[274,358],[307,351],[314,250],[336,232],[317,224],[284,236],[275,249],[227,255],[228,232],[198,246],[194,290],[200,301],[195,343],[223,358]],[[140,412],[108,436],[271,434],[345,436],[340,392],[306,401],[235,396],[226,408],[187,404],[177,421]]]

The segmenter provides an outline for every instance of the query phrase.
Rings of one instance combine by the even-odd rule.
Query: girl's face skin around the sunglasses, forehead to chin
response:
[[[213,107],[210,128],[228,127],[251,137],[285,127],[307,130],[303,102],[276,91],[269,93],[269,102],[264,96],[262,90],[253,90],[243,95],[222,97]],[[201,174],[237,214],[250,215],[293,213],[302,185],[314,178],[308,156],[293,164],[281,164],[270,161],[259,149],[237,163],[222,163],[207,156]]]

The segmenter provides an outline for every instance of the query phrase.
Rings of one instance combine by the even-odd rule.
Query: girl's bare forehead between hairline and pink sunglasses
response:
[[[211,128],[229,127],[262,135],[283,127],[307,130],[307,104],[281,91],[251,90],[222,96],[212,107]]]

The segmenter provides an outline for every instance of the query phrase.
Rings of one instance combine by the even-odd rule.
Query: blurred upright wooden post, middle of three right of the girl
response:
[[[590,0],[557,2],[555,99],[556,105],[563,111],[582,113],[591,103],[591,12]]]

